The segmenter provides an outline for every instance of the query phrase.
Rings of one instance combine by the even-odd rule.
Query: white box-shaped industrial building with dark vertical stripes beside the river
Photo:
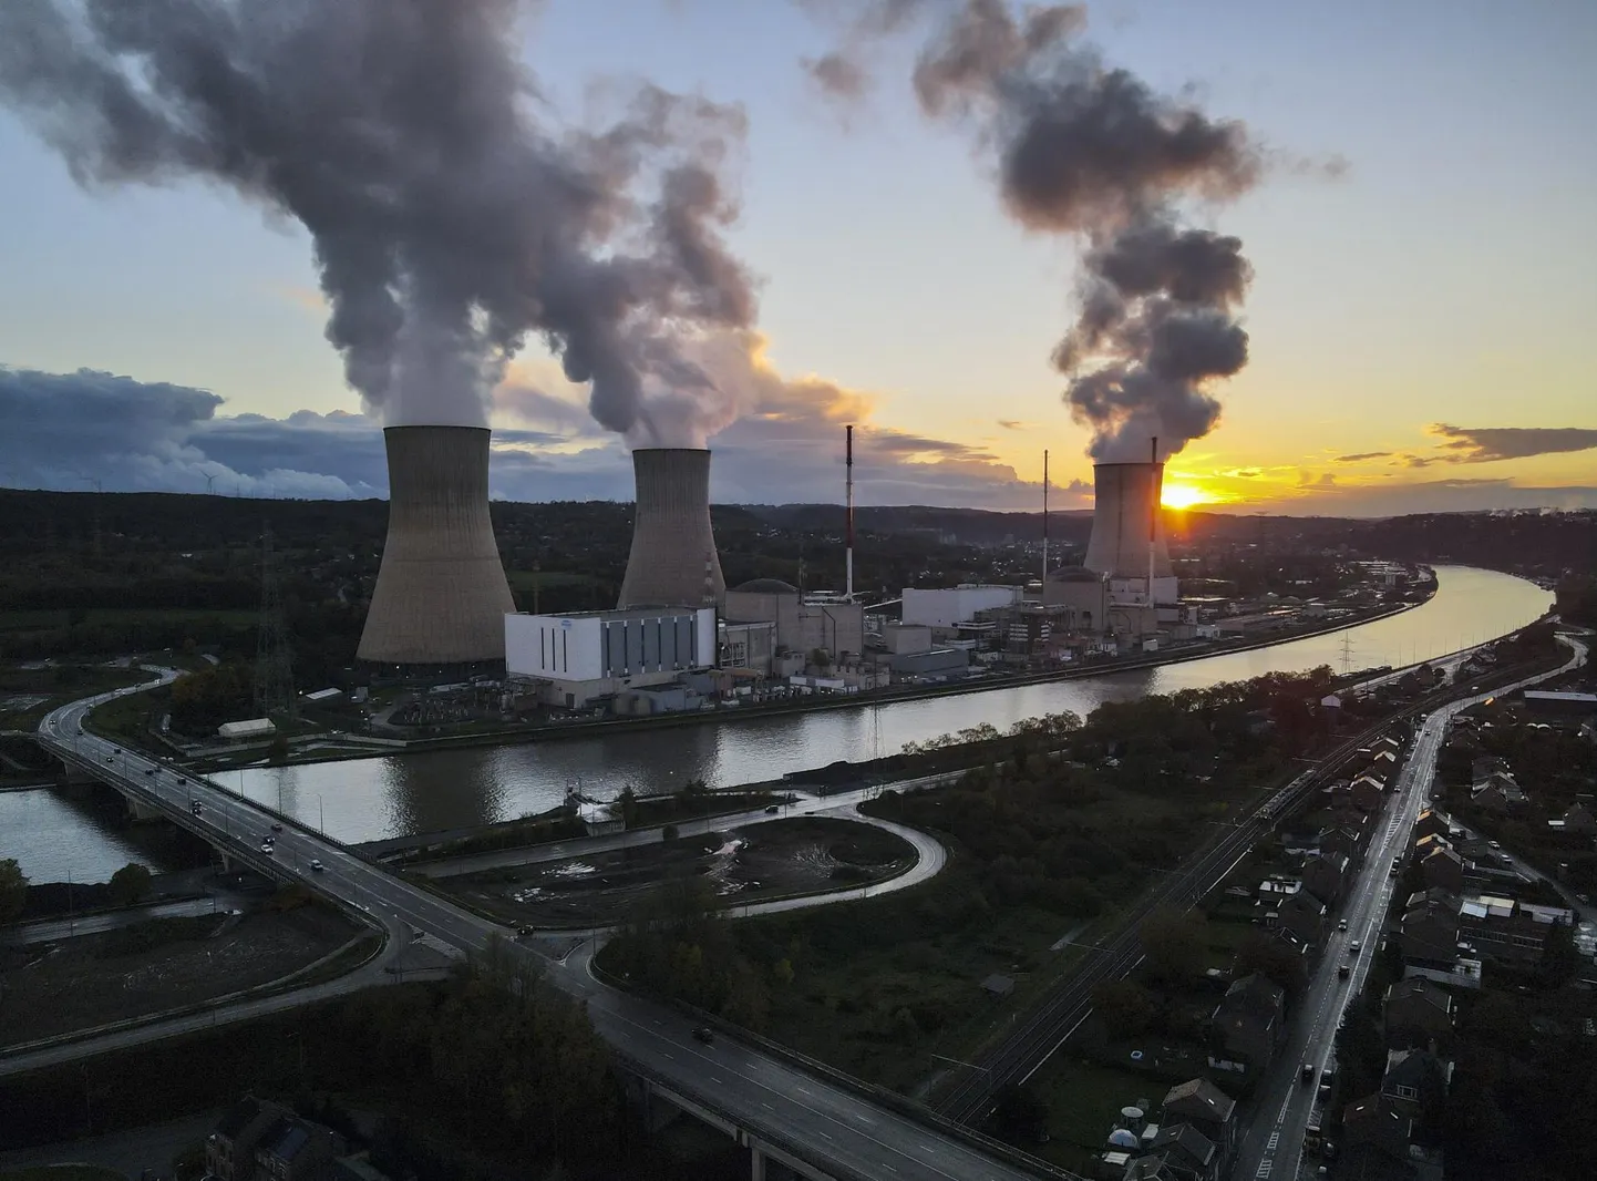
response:
[[[548,705],[578,710],[715,665],[714,607],[505,615],[505,670]]]

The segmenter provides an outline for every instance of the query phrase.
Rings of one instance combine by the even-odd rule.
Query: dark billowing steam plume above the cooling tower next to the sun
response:
[[[848,45],[907,19],[864,5]],[[1262,155],[1239,123],[1153,94],[1078,43],[1078,5],[921,0],[942,19],[915,67],[934,118],[973,126],[997,153],[1009,214],[1024,227],[1076,235],[1086,278],[1076,324],[1054,350],[1072,416],[1099,459],[1164,454],[1214,428],[1209,387],[1247,363],[1236,321],[1252,272],[1236,238],[1182,229],[1177,205],[1226,201],[1252,187]]]

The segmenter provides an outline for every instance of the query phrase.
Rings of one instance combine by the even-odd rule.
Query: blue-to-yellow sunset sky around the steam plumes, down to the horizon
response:
[[[1080,241],[1006,216],[992,152],[917,107],[925,38],[875,46],[861,99],[822,93],[827,2],[549,0],[521,42],[572,125],[640,78],[741,109],[725,241],[759,313],[715,361],[741,414],[712,495],[840,500],[854,422],[861,503],[1036,507],[1048,449],[1052,503],[1091,505],[1049,364]],[[1270,160],[1188,211],[1244,245],[1250,356],[1169,503],[1597,508],[1597,5],[1116,2],[1084,38]],[[383,494],[291,217],[206,181],[80,187],[5,104],[0,177],[0,484]],[[492,393],[497,495],[629,495],[628,438],[586,403],[532,339]]]

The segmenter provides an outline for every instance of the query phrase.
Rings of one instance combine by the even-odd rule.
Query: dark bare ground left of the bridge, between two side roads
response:
[[[0,968],[0,1047],[158,1013],[265,984],[358,928],[299,906],[238,917],[160,919],[11,952]],[[3,952],[0,952],[3,954]]]

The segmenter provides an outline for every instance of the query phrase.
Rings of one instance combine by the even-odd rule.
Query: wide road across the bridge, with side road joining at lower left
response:
[[[164,674],[163,674],[164,676]],[[169,678],[168,678],[169,679]],[[118,690],[118,694],[126,690]],[[110,695],[105,695],[110,697]],[[120,778],[134,791],[149,793],[180,823],[195,825],[190,802],[200,802],[198,826],[212,839],[236,850],[246,861],[260,863],[260,839],[271,828],[271,813],[233,796],[204,778],[185,777],[83,730],[85,714],[104,698],[88,698],[48,714],[40,738],[59,753],[94,764],[102,775]],[[147,772],[155,773],[147,773]],[[835,801],[834,801],[835,804]],[[474,952],[490,940],[511,932],[471,914],[418,887],[372,866],[342,845],[292,821],[278,821],[276,850],[271,853],[284,877],[299,877],[372,916],[390,932],[390,943],[401,944],[412,932]],[[319,861],[323,869],[311,868]],[[880,887],[877,887],[880,889]],[[813,905],[813,900],[811,900]],[[546,967],[548,960],[511,943],[513,954]],[[393,949],[385,952],[393,954]],[[0,1056],[0,1076],[38,1066],[73,1061],[88,1053],[158,1040],[286,1010],[324,996],[364,988],[371,970],[327,981],[308,989],[257,997],[225,1010],[209,1010],[153,1024],[101,1036],[93,1042],[38,1047]],[[749,1045],[731,1039],[706,1047],[695,1040],[685,1018],[674,1010],[600,986],[586,972],[586,957],[573,956],[564,965],[548,967],[546,978],[562,991],[588,1002],[594,1028],[623,1055],[656,1076],[671,1080],[684,1095],[712,1109],[735,1114],[736,1120],[773,1141],[797,1146],[805,1157],[834,1176],[941,1178],[945,1181],[1011,1181],[1033,1173],[1000,1162],[968,1141],[888,1111],[851,1088],[795,1069]]]

